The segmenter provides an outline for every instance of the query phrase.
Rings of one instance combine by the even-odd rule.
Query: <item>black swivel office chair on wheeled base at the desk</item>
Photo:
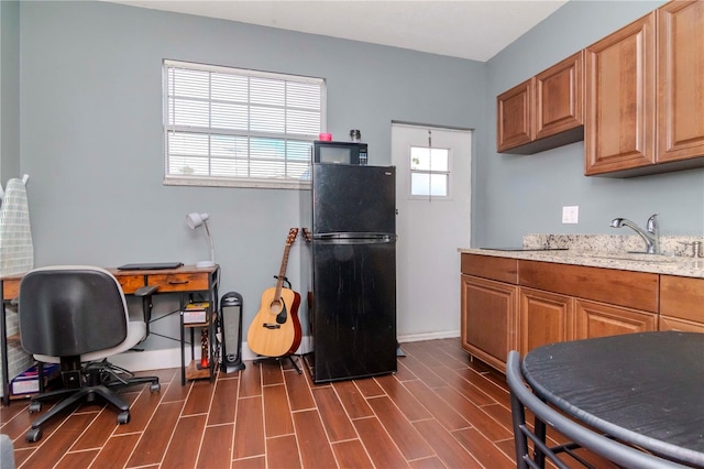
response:
[[[144,319],[130,320],[118,280],[108,271],[82,265],[35,269],[20,283],[19,319],[22,347],[41,363],[61,363],[63,389],[32,399],[30,413],[42,401],[65,397],[32,423],[28,441],[42,437],[41,425],[79,401],[100,396],[120,413],[118,424],[130,421],[130,406],[114,390],[150,383],[160,391],[157,377],[134,377],[114,367],[108,357],[127,351],[147,335],[151,294],[146,288]]]

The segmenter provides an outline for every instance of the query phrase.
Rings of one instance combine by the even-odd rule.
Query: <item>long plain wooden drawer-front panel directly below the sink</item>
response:
[[[658,312],[658,274],[525,260],[518,271],[525,286]]]

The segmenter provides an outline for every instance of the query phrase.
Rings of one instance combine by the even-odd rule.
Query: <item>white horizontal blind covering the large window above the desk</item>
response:
[[[298,187],[324,105],[321,78],[164,61],[166,183]]]

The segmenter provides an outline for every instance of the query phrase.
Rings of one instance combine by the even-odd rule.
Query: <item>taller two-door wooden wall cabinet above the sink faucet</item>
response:
[[[585,174],[704,166],[704,2],[673,1],[586,48]]]

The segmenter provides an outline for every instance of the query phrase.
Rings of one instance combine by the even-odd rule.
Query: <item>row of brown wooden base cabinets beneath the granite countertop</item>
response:
[[[704,279],[461,255],[462,347],[501,371],[510,350],[652,330],[704,332]]]

